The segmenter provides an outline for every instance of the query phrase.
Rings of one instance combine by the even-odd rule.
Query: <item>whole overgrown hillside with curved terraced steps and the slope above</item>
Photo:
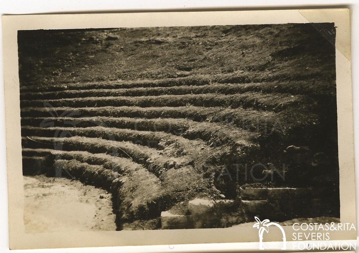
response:
[[[339,216],[335,47],[311,24],[19,31],[18,42],[24,174],[63,169],[105,188],[117,229],[157,229],[182,201],[236,199],[254,181],[233,164],[258,162],[286,170],[260,187],[327,187],[322,215]]]

